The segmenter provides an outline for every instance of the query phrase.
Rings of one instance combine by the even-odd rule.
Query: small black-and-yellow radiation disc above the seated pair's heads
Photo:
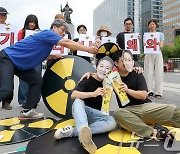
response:
[[[98,54],[96,54],[97,59],[101,59],[105,56],[111,57],[112,54],[118,50],[118,46],[115,43],[108,42],[102,44],[98,49]]]

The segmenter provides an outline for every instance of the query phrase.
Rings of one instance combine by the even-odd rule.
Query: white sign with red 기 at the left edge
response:
[[[18,28],[12,25],[0,24],[0,50],[17,42]]]

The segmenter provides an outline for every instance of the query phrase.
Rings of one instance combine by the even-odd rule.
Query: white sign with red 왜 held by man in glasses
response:
[[[138,39],[139,33],[124,34],[125,49],[130,50],[131,53],[140,54],[140,45]]]

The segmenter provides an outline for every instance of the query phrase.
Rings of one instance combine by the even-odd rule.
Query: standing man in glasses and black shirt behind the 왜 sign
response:
[[[121,32],[116,36],[117,44],[119,45],[121,49],[125,49],[124,34],[132,33],[133,25],[134,25],[134,22],[131,18],[126,18],[124,20],[124,32]],[[135,61],[135,66],[137,66],[138,65],[137,55],[133,55],[133,59]]]

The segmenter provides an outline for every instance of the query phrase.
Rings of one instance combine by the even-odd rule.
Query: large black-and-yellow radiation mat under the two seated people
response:
[[[50,152],[59,153],[59,151],[60,153],[70,154],[87,153],[87,151],[85,151],[83,147],[79,144],[78,137],[69,137],[55,141],[55,131],[59,128],[64,128],[69,124],[75,126],[75,120],[59,120],[56,127],[54,127],[54,130],[52,130],[50,133],[29,142],[26,151],[27,154],[31,154],[33,152],[36,153],[36,151],[43,154],[49,154]],[[171,127],[168,129],[172,130],[172,133],[176,132],[175,138],[177,140],[180,134],[178,132],[179,128]],[[163,141],[156,141],[153,138],[143,139],[136,136],[134,133],[128,132],[124,129],[116,129],[111,132],[106,132],[102,134],[94,134],[92,139],[98,147],[95,154],[164,154],[168,153],[165,148],[169,148],[164,147]],[[61,151],[62,149],[63,151]],[[177,154],[177,151],[170,153]]]

